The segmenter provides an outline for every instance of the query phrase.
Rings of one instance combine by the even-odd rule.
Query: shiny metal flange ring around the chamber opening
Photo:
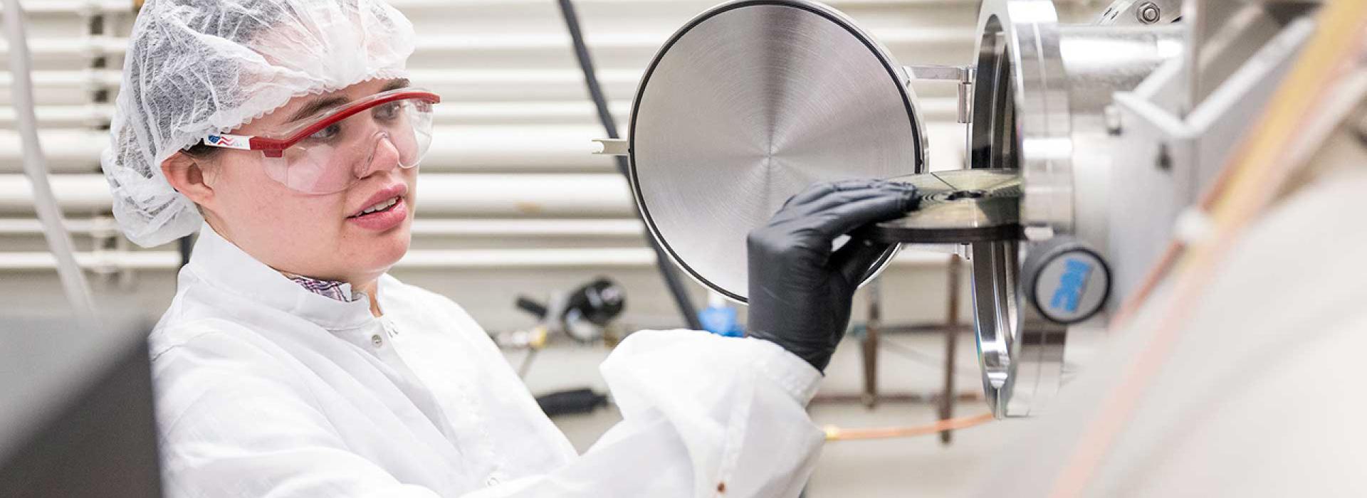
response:
[[[973,168],[1020,168],[1021,224],[1070,231],[1068,72],[1048,0],[988,0],[979,15],[969,154]],[[998,418],[1028,415],[1057,392],[1066,329],[1020,299],[1017,241],[975,243],[973,310],[983,390]]]

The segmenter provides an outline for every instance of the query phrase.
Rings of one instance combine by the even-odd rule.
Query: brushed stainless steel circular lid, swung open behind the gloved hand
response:
[[[745,237],[789,196],[924,171],[906,82],[886,49],[817,3],[733,1],[699,15],[636,96],[632,190],[647,226],[696,280],[744,302]]]

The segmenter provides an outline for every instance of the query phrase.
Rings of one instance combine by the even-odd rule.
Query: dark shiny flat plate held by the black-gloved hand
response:
[[[973,243],[1021,235],[1021,177],[1016,169],[962,169],[897,179],[921,194],[905,217],[860,231],[886,243]]]

